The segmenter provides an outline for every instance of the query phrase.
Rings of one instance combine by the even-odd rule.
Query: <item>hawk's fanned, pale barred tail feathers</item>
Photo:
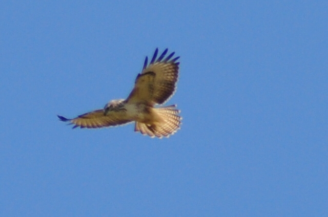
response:
[[[134,131],[139,131],[142,135],[162,138],[169,137],[180,129],[182,118],[178,116],[180,110],[176,109],[176,105],[154,108],[154,112],[165,121],[154,124],[135,122]]]

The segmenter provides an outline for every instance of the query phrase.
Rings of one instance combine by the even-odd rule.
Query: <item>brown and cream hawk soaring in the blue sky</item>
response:
[[[134,131],[152,138],[170,137],[180,129],[182,118],[177,105],[165,104],[176,92],[179,64],[175,52],[163,51],[157,58],[156,48],[148,64],[146,56],[144,67],[135,79],[134,87],[126,99],[108,102],[98,109],[76,118],[57,115],[60,121],[73,124],[73,128],[101,128],[133,123]]]

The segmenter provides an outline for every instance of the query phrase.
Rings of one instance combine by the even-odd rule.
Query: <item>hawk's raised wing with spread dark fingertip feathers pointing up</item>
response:
[[[134,88],[127,98],[128,102],[144,102],[151,105],[163,104],[173,96],[178,80],[180,62],[176,62],[179,57],[171,59],[174,52],[164,58],[167,52],[168,49],[156,59],[157,48],[149,65],[148,57],[146,57],[144,68],[138,74]]]

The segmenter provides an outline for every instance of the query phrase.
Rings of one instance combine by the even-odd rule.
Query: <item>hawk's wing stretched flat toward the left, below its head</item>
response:
[[[74,124],[73,128],[100,128],[105,126],[125,124],[133,121],[127,118],[125,112],[121,111],[110,111],[105,116],[104,110],[96,110],[83,115],[79,115],[78,117],[73,119],[68,119],[59,115],[57,116],[61,121],[70,122],[70,124]]]

